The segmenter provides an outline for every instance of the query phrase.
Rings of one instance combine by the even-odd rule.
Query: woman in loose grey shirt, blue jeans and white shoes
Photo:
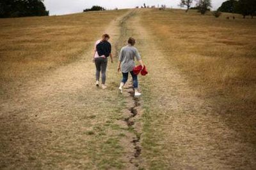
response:
[[[137,48],[134,47],[136,41],[134,38],[128,39],[128,44],[122,47],[118,59],[118,72],[122,71],[122,81],[120,82],[120,87],[118,88],[120,92],[123,92],[123,87],[128,80],[128,74],[131,73],[133,88],[134,88],[134,96],[138,97],[141,96],[141,93],[138,92],[138,77],[133,72],[133,68],[135,67],[134,58],[140,62],[142,68],[144,67],[143,61],[141,60],[140,53],[138,52]]]

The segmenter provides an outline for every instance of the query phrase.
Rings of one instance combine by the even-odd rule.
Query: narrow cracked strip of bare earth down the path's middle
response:
[[[130,29],[129,23],[136,16],[138,10],[133,10],[129,15],[127,15],[121,25],[121,36],[118,39],[118,49],[124,45],[127,45],[127,39],[133,35],[133,29]],[[119,53],[118,53],[119,55]],[[119,75],[121,76],[121,74]],[[120,81],[118,81],[119,83]],[[122,94],[124,99],[124,107],[122,109],[122,118],[117,120],[115,124],[119,124],[123,127],[124,138],[121,139],[121,144],[124,148],[123,160],[127,162],[125,169],[140,169],[143,166],[141,159],[141,134],[142,134],[142,124],[141,117],[143,110],[141,105],[143,101],[140,98],[134,97],[134,90],[132,89],[132,81],[127,81],[125,85],[124,92]]]

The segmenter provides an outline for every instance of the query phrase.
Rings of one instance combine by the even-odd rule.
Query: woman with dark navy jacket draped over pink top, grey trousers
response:
[[[93,52],[93,62],[96,66],[96,86],[99,87],[100,71],[101,71],[101,83],[102,89],[106,89],[106,69],[108,65],[108,57],[111,57],[113,63],[113,56],[111,54],[111,44],[108,42],[109,35],[103,34],[102,39],[99,39],[95,43]]]

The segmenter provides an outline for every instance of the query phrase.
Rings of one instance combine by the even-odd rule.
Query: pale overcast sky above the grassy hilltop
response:
[[[212,9],[216,10],[225,0],[212,0]],[[103,6],[107,9],[113,8],[134,8],[143,3],[152,6],[157,4],[166,4],[168,8],[179,8],[180,0],[44,0],[46,9],[50,15],[63,15],[68,13],[79,13],[85,8],[91,8],[93,5]]]

